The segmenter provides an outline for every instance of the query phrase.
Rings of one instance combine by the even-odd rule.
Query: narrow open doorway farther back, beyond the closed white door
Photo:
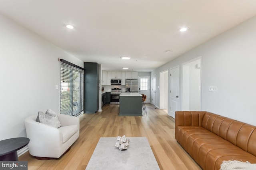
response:
[[[159,91],[160,91],[160,109],[168,108],[168,70],[160,72],[159,80]]]

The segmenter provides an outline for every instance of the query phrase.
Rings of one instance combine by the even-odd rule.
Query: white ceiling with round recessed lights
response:
[[[0,13],[103,70],[152,71],[255,16],[256,0],[0,0]]]

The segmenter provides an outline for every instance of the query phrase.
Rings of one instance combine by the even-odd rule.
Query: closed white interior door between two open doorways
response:
[[[170,70],[170,116],[175,119],[175,112],[180,107],[180,68],[179,66]]]

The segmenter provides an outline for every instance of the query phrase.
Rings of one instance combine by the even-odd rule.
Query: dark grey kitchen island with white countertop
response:
[[[119,96],[119,115],[142,116],[142,95],[139,93],[121,93]]]

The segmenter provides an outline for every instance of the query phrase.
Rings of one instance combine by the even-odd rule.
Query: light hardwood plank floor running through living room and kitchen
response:
[[[82,114],[80,136],[68,153],[58,159],[37,160],[26,152],[19,160],[28,161],[28,170],[85,170],[100,137],[126,135],[148,138],[160,170],[202,170],[176,142],[174,119],[167,110],[152,104],[146,107],[144,116],[119,116],[116,104],[106,104],[96,114]]]

